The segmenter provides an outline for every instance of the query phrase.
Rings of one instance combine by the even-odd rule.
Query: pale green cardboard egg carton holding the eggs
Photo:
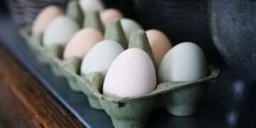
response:
[[[90,22],[95,23],[93,21]],[[218,69],[208,66],[209,74],[201,80],[161,82],[156,86],[156,90],[146,95],[113,98],[102,95],[104,77],[101,73],[95,72],[81,76],[79,71],[82,60],[80,58],[62,59],[63,46],[54,45],[47,48],[42,46],[43,34],[32,36],[30,27],[23,28],[21,36],[26,39],[28,46],[41,63],[50,65],[54,75],[68,80],[71,90],[83,92],[92,108],[105,110],[111,117],[114,127],[144,127],[151,111],[160,107],[164,107],[167,112],[176,116],[195,113],[199,108],[209,82],[215,80],[219,74]],[[110,27],[107,26],[105,39],[117,41],[124,48],[127,48],[119,20],[112,20]],[[144,31],[132,33],[128,48],[141,48],[149,54],[154,65],[156,64]],[[155,69],[157,73],[156,66]]]

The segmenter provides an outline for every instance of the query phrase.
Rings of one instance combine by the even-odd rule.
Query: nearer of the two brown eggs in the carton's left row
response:
[[[65,47],[63,58],[66,59],[76,56],[82,59],[92,46],[95,46],[102,39],[102,33],[96,28],[83,28],[70,39],[68,45]]]

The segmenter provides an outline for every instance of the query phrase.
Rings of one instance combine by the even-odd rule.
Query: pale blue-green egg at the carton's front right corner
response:
[[[169,50],[159,66],[159,82],[200,80],[208,75],[206,56],[195,43],[179,43]]]

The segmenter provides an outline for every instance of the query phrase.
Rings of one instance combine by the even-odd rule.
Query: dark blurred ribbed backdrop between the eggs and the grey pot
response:
[[[210,36],[206,0],[134,0],[134,11],[145,29],[166,33],[173,45],[197,43],[210,57],[219,57]]]

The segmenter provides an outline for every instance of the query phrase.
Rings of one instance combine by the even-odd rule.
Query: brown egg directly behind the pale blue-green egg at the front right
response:
[[[159,67],[162,58],[171,49],[171,41],[164,33],[156,29],[146,31],[146,36],[149,39],[156,65]]]

